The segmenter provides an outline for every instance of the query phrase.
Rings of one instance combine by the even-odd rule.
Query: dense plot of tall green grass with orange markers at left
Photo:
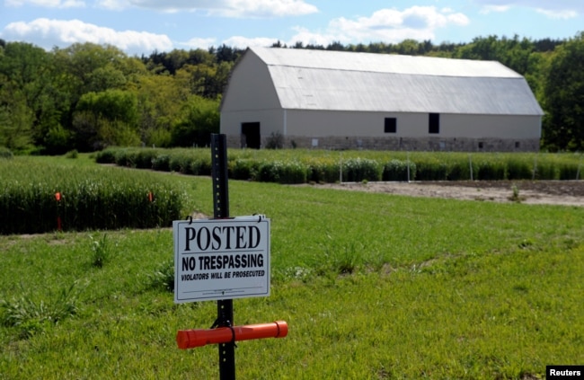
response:
[[[180,216],[181,191],[146,172],[0,161],[0,234],[147,228]]]

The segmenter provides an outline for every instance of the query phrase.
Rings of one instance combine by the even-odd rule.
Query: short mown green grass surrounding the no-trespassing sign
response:
[[[185,216],[212,215],[210,179],[161,176],[187,192]],[[238,378],[521,379],[584,364],[583,208],[229,190],[232,216],[271,219],[271,296],[234,300],[234,323],[289,326],[238,343]],[[0,236],[0,379],[218,378],[217,347],[176,348],[217,306],[173,304],[157,277],[172,259],[170,229]]]

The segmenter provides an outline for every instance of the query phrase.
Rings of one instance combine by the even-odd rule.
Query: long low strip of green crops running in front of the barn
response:
[[[208,175],[208,149],[109,148],[99,163]],[[581,154],[232,149],[234,180],[278,183],[338,181],[580,180]]]

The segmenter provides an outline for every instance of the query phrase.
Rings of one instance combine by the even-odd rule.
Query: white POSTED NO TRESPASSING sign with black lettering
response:
[[[175,220],[174,302],[270,296],[270,219]]]

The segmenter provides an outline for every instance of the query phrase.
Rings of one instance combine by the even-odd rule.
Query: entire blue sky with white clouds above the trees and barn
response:
[[[0,39],[45,49],[89,41],[138,56],[277,40],[439,44],[489,35],[568,39],[584,31],[582,0],[0,1]]]

